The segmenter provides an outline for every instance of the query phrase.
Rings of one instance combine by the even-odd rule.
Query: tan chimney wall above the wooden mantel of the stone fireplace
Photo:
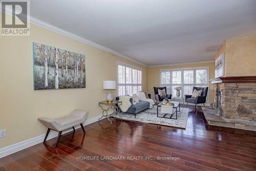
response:
[[[226,40],[225,76],[256,75],[256,35]]]

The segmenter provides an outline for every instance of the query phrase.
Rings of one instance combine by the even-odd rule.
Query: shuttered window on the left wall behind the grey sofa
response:
[[[118,96],[130,95],[141,91],[142,76],[140,68],[118,62],[117,75]]]

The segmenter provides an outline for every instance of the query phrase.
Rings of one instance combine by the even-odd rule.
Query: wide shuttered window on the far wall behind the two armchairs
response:
[[[172,97],[176,97],[176,87],[182,88],[181,96],[191,95],[193,87],[208,87],[208,68],[161,70],[160,86]]]

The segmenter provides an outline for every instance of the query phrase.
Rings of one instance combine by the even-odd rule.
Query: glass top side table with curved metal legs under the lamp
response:
[[[102,109],[102,116],[101,116],[101,118],[99,118],[98,121],[100,121],[103,117],[108,117],[108,120],[112,124],[111,116],[119,115],[119,113],[120,113],[119,106],[121,104],[122,104],[121,101],[113,101],[112,103],[109,103],[107,101],[99,102],[99,106]],[[112,110],[113,110],[113,112],[112,112]],[[121,119],[122,119],[122,117],[121,117]]]

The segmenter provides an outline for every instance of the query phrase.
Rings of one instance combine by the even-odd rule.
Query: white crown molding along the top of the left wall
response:
[[[6,9],[6,13],[9,14],[9,15],[12,15],[11,11],[12,11],[11,8],[7,8]],[[3,12],[3,11],[0,10],[0,12]],[[59,33],[61,35],[70,37],[72,39],[81,41],[84,44],[87,44],[87,45],[90,45],[92,47],[101,49],[103,51],[112,53],[112,54],[117,55],[117,56],[119,56],[121,58],[124,58],[124,59],[130,60],[132,62],[135,62],[135,63],[137,63],[137,64],[139,64],[141,66],[148,67],[147,65],[145,65],[144,63],[142,63],[140,61],[137,61],[135,59],[132,59],[131,57],[125,56],[125,55],[123,55],[123,54],[121,54],[121,53],[119,53],[119,52],[117,52],[117,51],[115,51],[113,49],[108,48],[108,47],[105,47],[105,46],[102,46],[100,44],[97,44],[96,42],[94,42],[92,40],[89,40],[89,39],[81,37],[81,36],[79,36],[77,34],[71,33],[71,32],[69,32],[69,31],[67,31],[65,29],[61,29],[60,27],[54,26],[54,25],[52,25],[50,23],[45,22],[44,20],[41,20],[41,19],[36,18],[36,17],[33,17],[31,15],[29,17],[30,17],[30,23],[31,24],[37,25],[39,27],[42,27],[42,28],[45,28],[45,29],[48,29],[48,30],[51,30],[53,32],[56,32],[56,33]]]

